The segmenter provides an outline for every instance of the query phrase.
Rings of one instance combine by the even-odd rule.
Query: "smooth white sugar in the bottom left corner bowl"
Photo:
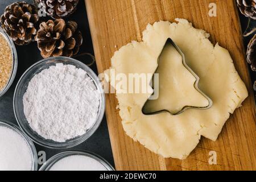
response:
[[[30,171],[32,155],[26,140],[16,131],[0,126],[0,171]]]

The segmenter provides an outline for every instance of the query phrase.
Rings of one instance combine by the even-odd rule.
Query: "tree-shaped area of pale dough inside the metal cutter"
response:
[[[149,113],[168,110],[174,114],[185,106],[209,105],[207,98],[194,87],[195,76],[184,67],[182,56],[171,44],[167,44],[159,56],[156,73],[159,74],[159,97],[157,100],[147,101],[144,109]]]

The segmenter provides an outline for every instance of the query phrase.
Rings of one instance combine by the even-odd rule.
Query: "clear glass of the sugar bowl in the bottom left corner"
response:
[[[13,123],[6,122],[6,121],[0,121],[0,126],[7,127],[8,129],[11,129],[18,133],[24,140],[26,141],[28,147],[30,147],[31,151],[31,159],[32,159],[32,167],[31,171],[37,171],[38,170],[38,153],[36,152],[36,148],[34,143],[30,138],[28,138],[25,134],[23,134],[18,127],[16,127]]]

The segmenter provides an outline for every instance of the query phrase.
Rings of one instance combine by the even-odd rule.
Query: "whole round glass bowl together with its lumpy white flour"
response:
[[[78,60],[50,57],[22,75],[14,93],[14,114],[34,142],[70,148],[100,126],[105,95],[97,75]]]

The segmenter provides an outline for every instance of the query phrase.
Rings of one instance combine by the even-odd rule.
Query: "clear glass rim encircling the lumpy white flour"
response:
[[[18,98],[16,98],[16,94],[18,92],[18,86],[20,85],[20,82],[23,81],[24,76],[26,76],[27,73],[29,73],[32,68],[36,67],[39,64],[46,63],[47,61],[52,61],[53,63],[56,63],[56,61],[62,61],[62,63],[65,63],[64,60],[71,61],[71,63],[73,63],[75,65],[77,65],[77,64],[82,65],[84,68],[81,68],[81,69],[83,69],[84,71],[86,71],[86,73],[88,73],[88,75],[92,78],[94,84],[96,85],[97,89],[100,89],[99,90],[99,92],[100,92],[100,106],[99,106],[99,110],[98,110],[97,120],[94,123],[94,125],[88,130],[88,131],[90,131],[90,133],[86,135],[86,133],[88,133],[88,132],[86,132],[84,135],[79,136],[80,139],[78,139],[77,142],[74,142],[74,143],[56,142],[57,144],[56,143],[53,144],[52,142],[46,143],[46,142],[44,142],[44,140],[47,140],[47,139],[44,139],[44,140],[43,139],[38,139],[38,136],[40,136],[39,134],[37,134],[37,136],[35,137],[34,134],[31,133],[31,130],[32,130],[31,128],[30,128],[31,130],[27,131],[27,129],[25,129],[23,127],[23,124],[22,124],[23,122],[21,121],[22,119],[18,118],[17,111],[16,111],[16,110],[18,110],[18,108],[16,108],[16,106],[15,106],[16,100],[18,100]],[[89,68],[86,64],[82,63],[81,61],[73,59],[71,57],[57,56],[57,57],[48,57],[46,59],[40,60],[40,61],[36,62],[35,64],[33,64],[30,68],[28,68],[23,73],[23,75],[20,77],[20,79],[18,81],[18,84],[16,85],[16,88],[15,88],[15,91],[14,91],[13,108],[14,108],[14,115],[15,115],[16,121],[18,122],[18,125],[19,125],[20,129],[23,131],[23,133],[28,135],[28,137],[33,142],[35,142],[36,144],[39,144],[40,146],[46,147],[46,148],[67,149],[67,148],[75,147],[75,146],[85,142],[90,137],[92,137],[92,135],[97,131],[98,127],[100,127],[100,125],[101,125],[102,119],[104,118],[105,102],[106,102],[105,101],[105,94],[104,94],[104,90],[102,89],[101,82],[100,82],[99,78],[97,77],[96,73],[94,73],[91,68]],[[27,120],[26,120],[26,122],[27,122]],[[42,137],[42,136],[40,136],[40,137]],[[72,142],[72,140],[73,139],[70,139],[69,142]],[[51,141],[51,140],[47,140],[47,141]]]

